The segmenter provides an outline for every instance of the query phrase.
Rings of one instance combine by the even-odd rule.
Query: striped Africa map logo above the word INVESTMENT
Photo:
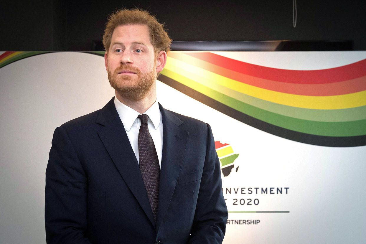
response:
[[[224,177],[231,173],[231,170],[235,167],[234,161],[238,158],[239,154],[235,154],[230,144],[221,143],[220,141],[215,142],[215,149],[217,156],[221,162],[221,171]],[[238,172],[239,166],[235,168],[235,172]]]

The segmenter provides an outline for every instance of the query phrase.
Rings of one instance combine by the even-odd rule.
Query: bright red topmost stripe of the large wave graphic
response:
[[[249,64],[209,52],[186,52],[184,54],[242,74],[286,83],[325,84],[351,80],[366,75],[366,59],[324,70],[283,70]]]

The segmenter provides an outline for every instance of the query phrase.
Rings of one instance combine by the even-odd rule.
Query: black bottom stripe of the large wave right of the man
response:
[[[268,132],[272,135],[279,136],[285,139],[294,140],[296,142],[302,142],[317,146],[327,147],[357,147],[366,145],[366,135],[361,136],[320,136],[306,134],[303,132],[292,131],[290,129],[282,128],[277,125],[267,123],[265,121],[251,117],[245,113],[239,112],[221,102],[214,100],[182,83],[169,78],[168,76],[160,74],[158,80],[167,84],[170,87],[188,95],[189,97],[210,106],[227,116],[232,117],[244,124],[250,125],[251,127],[260,129],[261,131]]]

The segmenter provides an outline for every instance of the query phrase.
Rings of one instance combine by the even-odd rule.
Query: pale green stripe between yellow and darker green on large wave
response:
[[[189,74],[190,77],[193,78],[195,82],[202,84],[203,86],[209,87],[215,91],[218,91],[224,95],[235,98],[241,102],[246,104],[255,106],[257,108],[261,108],[267,110],[269,112],[277,113],[279,115],[284,115],[292,118],[303,119],[303,120],[311,120],[311,121],[324,121],[324,122],[342,122],[342,121],[354,121],[354,120],[363,120],[366,119],[366,106],[360,106],[356,108],[348,108],[348,109],[306,109],[306,108],[297,108],[294,106],[277,104],[275,102],[269,102],[266,100],[262,100],[256,97],[252,97],[250,95],[241,93],[239,91],[232,90],[228,87],[217,84],[216,82],[211,82],[210,80],[205,80],[205,78],[196,75],[194,73],[183,70],[179,67],[175,67],[179,72],[174,72],[170,70],[164,69],[161,71],[161,74],[165,75],[165,71],[170,71],[175,74],[184,74],[187,79],[186,74]],[[169,76],[169,75],[166,75]],[[201,82],[202,80],[202,82]]]

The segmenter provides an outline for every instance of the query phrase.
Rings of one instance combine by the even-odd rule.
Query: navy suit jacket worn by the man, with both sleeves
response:
[[[160,106],[157,220],[115,109],[57,127],[46,169],[48,243],[221,243],[228,217],[211,128]]]

